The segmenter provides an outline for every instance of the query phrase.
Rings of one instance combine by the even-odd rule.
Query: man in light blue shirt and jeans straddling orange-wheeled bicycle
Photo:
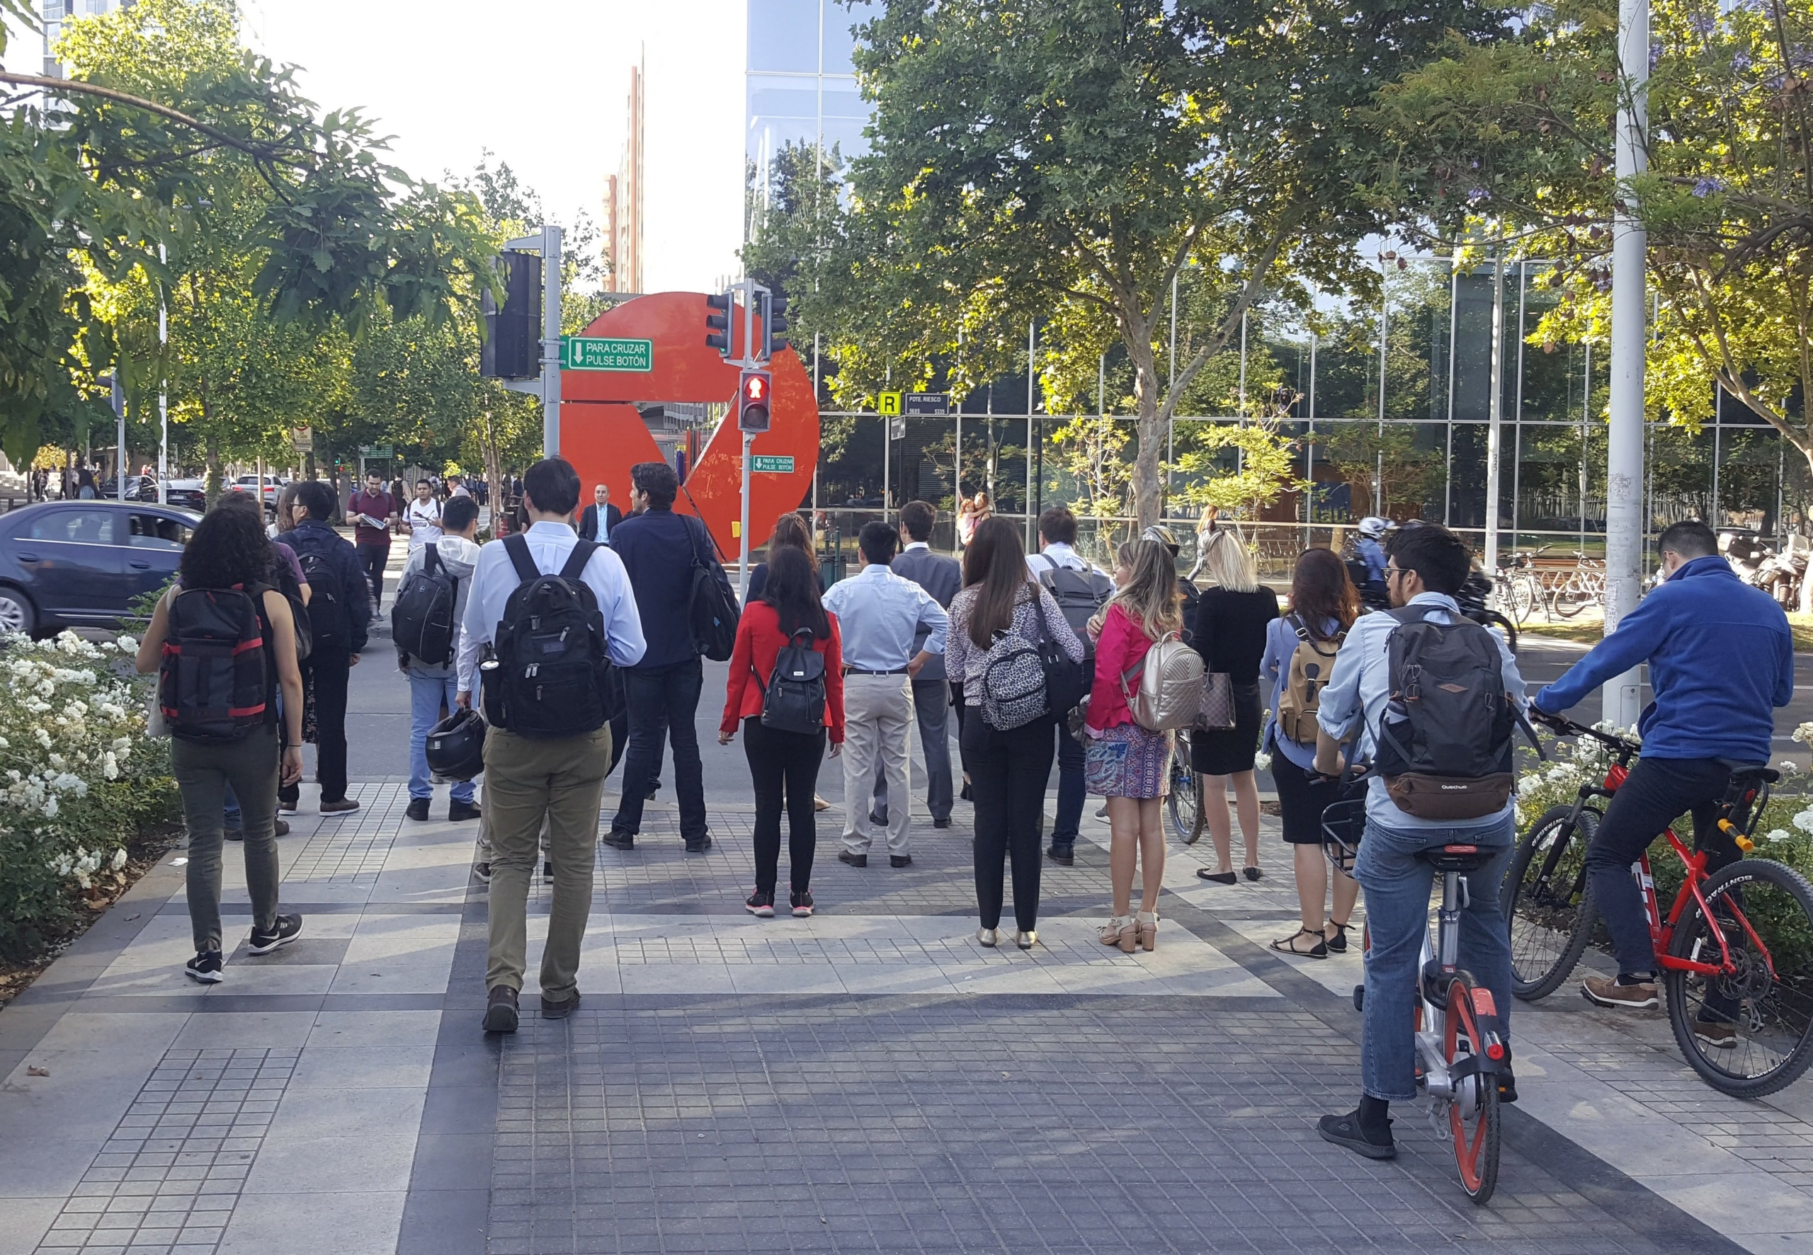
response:
[[[1423,523],[1398,532],[1389,549],[1385,589],[1392,607],[1425,608],[1425,619],[1454,623],[1454,594],[1472,567],[1467,545],[1449,529]],[[1354,621],[1334,659],[1316,712],[1316,770],[1340,771],[1340,744],[1352,741],[1354,759],[1371,759],[1380,719],[1391,695],[1389,643],[1400,627],[1396,614],[1365,614]],[[1485,628],[1479,628],[1485,632]],[[1523,675],[1505,641],[1492,634],[1501,659],[1505,692],[1523,704]],[[1369,1159],[1398,1154],[1387,1119],[1389,1103],[1416,1097],[1416,960],[1429,931],[1429,895],[1434,867],[1420,858],[1432,846],[1469,844],[1490,849],[1492,860],[1469,873],[1470,898],[1461,911],[1459,963],[1478,976],[1498,1003],[1505,1041],[1510,1041],[1510,936],[1498,913],[1498,887],[1516,848],[1514,804],[1479,819],[1430,820],[1400,810],[1378,775],[1367,786],[1365,835],[1354,880],[1365,889],[1371,949],[1365,962],[1365,1038],[1360,1047],[1360,1108],[1323,1116],[1322,1137]],[[1499,1074],[1499,1096],[1516,1101],[1516,1085]]]

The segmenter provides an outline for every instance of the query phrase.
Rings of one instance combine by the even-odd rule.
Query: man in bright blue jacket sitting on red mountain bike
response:
[[[1693,813],[1693,840],[1706,869],[1739,858],[1717,829],[1719,802],[1737,762],[1768,762],[1775,706],[1795,695],[1795,652],[1788,616],[1719,558],[1711,529],[1673,523],[1657,547],[1666,580],[1624,616],[1554,685],[1536,695],[1532,714],[1561,714],[1605,681],[1650,665],[1655,701],[1643,712],[1643,757],[1617,790],[1586,849],[1594,904],[1612,933],[1617,976],[1588,976],[1581,991],[1601,1007],[1655,1007],[1655,949],[1648,911],[1630,864],[1682,811]],[[1721,762],[1724,761],[1724,762]],[[1730,1023],[1695,1020],[1711,1047],[1735,1047]]]

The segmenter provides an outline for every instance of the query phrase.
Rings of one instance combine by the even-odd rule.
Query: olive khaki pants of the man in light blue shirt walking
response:
[[[529,741],[502,728],[491,728],[486,737],[484,820],[491,829],[486,989],[522,989],[529,949],[529,878],[546,819],[555,887],[548,947],[542,951],[542,996],[566,1001],[577,991],[578,949],[591,915],[598,799],[609,768],[609,728],[560,741]]]

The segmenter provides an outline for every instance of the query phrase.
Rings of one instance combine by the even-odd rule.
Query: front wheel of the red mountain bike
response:
[[[1586,886],[1586,846],[1599,811],[1552,806],[1517,842],[1505,871],[1498,909],[1510,927],[1510,992],[1536,1001],[1556,992],[1592,938],[1599,913]]]

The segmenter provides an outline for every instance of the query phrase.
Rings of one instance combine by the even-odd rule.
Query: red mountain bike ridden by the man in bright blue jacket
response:
[[[1510,985],[1525,1001],[1554,992],[1592,940],[1599,913],[1586,882],[1586,846],[1630,773],[1641,746],[1626,737],[1545,717],[1557,732],[1590,737],[1615,761],[1603,784],[1583,784],[1530,828],[1505,873],[1499,909],[1510,924]],[[1719,829],[1750,853],[1750,826],[1779,773],[1731,764]],[[1813,1061],[1813,887],[1769,858],[1739,858],[1706,873],[1706,851],[1666,833],[1684,871],[1664,920],[1650,855],[1632,867],[1650,915],[1655,965],[1681,1054],[1713,1088],[1760,1097],[1791,1085]],[[1735,1032],[1733,1032],[1735,1030]]]

